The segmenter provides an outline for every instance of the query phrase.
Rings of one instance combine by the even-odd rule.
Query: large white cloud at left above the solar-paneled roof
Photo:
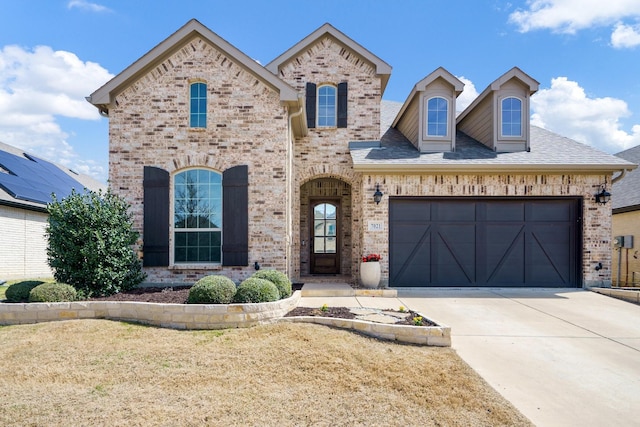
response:
[[[111,77],[70,52],[5,46],[0,50],[0,141],[104,181],[106,167],[81,159],[56,118],[99,120],[85,96]]]

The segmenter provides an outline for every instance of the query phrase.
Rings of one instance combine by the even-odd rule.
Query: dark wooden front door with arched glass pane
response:
[[[311,205],[311,274],[340,273],[337,201]]]

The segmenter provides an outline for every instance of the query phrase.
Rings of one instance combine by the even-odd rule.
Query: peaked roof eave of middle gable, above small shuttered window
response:
[[[269,62],[265,66],[265,68],[271,71],[273,74],[278,75],[280,66],[297,56],[300,52],[307,49],[318,39],[324,37],[327,34],[373,65],[376,70],[376,74],[382,80],[381,89],[382,93],[384,93],[384,89],[386,88],[387,82],[389,81],[389,76],[391,75],[391,66],[328,22],[322,24],[311,34],[309,34],[298,43],[287,49],[280,56]]]

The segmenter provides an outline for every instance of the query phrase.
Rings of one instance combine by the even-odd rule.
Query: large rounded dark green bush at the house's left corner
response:
[[[109,190],[53,198],[48,205],[47,257],[56,281],[92,297],[129,290],[144,280],[133,251],[138,233],[128,208]]]

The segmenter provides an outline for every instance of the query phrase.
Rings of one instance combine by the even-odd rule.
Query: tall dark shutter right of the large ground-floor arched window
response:
[[[222,265],[249,265],[249,168],[222,173]]]

